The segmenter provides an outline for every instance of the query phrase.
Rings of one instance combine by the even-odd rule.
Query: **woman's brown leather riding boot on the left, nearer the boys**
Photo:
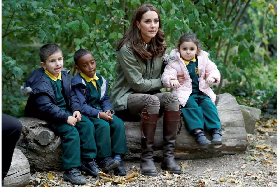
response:
[[[153,159],[153,145],[157,119],[158,114],[150,114],[146,109],[142,109],[140,123],[142,144],[140,167],[142,174],[147,176],[157,175]]]

